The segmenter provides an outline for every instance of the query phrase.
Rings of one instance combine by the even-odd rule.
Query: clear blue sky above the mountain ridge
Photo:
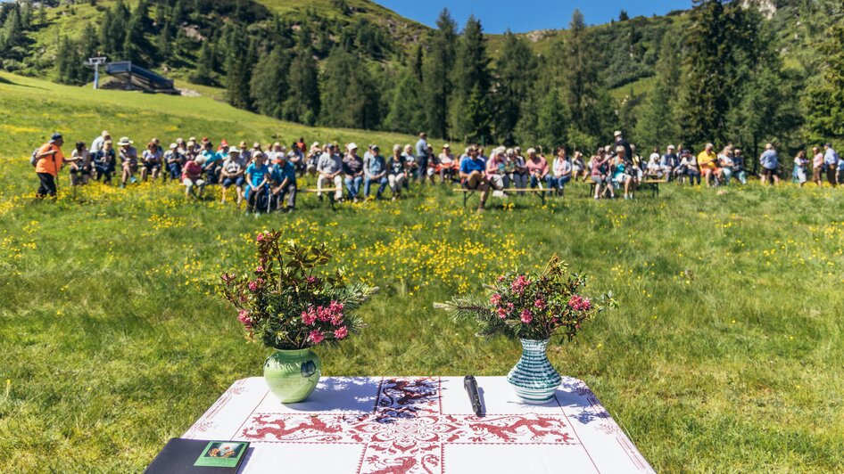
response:
[[[579,8],[590,25],[618,18],[622,9],[631,18],[665,14],[691,7],[691,0],[375,0],[410,19],[434,26],[443,7],[451,10],[460,28],[470,14],[481,19],[487,33],[517,33],[533,29],[567,28],[572,12]]]

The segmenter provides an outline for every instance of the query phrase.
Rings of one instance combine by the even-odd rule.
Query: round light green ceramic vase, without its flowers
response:
[[[276,349],[264,363],[264,380],[269,391],[283,404],[303,402],[317,388],[321,374],[319,356],[310,348]]]

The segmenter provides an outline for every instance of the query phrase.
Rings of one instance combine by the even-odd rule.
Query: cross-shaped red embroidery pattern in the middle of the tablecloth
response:
[[[360,472],[433,473],[443,469],[443,445],[573,445],[565,416],[440,413],[439,380],[384,380],[375,413],[258,413],[241,432],[253,443],[355,443],[364,445]]]

